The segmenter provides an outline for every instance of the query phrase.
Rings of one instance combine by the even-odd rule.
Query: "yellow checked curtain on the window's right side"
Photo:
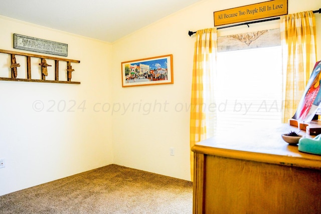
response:
[[[299,104],[316,62],[315,20],[312,11],[280,17],[283,51],[283,122]]]

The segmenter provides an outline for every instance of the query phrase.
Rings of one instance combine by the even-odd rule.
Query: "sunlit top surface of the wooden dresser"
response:
[[[239,129],[233,133],[221,133],[201,141],[192,147],[192,151],[231,158],[260,162],[277,163],[307,168],[321,169],[321,155],[298,151],[297,145],[289,145],[281,135],[290,131],[299,132],[307,138],[305,131],[295,126],[281,124],[278,127],[257,127]]]

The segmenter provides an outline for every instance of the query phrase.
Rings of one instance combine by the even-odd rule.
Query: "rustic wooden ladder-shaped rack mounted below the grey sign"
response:
[[[11,77],[0,77],[0,80],[5,81],[21,81],[21,82],[41,82],[41,83],[67,83],[67,84],[80,84],[80,82],[72,82],[71,81],[71,73],[75,71],[72,69],[71,63],[80,63],[79,60],[70,60],[58,57],[51,57],[51,56],[43,56],[43,55],[36,55],[36,54],[28,54],[22,52],[15,52],[15,51],[7,51],[0,49],[0,53],[10,54],[11,55],[11,65],[8,68],[11,68]],[[18,75],[18,67],[20,64],[17,63],[16,55],[25,56],[27,59],[27,75],[26,78],[17,78]],[[31,78],[31,58],[39,58],[41,61],[39,66],[41,66],[41,79],[32,79]],[[46,80],[46,76],[48,76],[47,67],[52,65],[47,64],[46,60],[54,60],[55,61],[55,80]],[[59,80],[59,61],[67,62],[67,81],[60,81]]]

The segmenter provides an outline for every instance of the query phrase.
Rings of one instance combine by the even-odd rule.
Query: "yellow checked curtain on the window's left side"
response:
[[[214,87],[217,52],[217,29],[204,29],[196,33],[190,121],[190,145],[214,136],[216,123]],[[194,154],[191,152],[193,180]]]

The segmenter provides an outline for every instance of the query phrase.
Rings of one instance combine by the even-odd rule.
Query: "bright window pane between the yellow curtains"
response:
[[[217,54],[217,132],[281,123],[280,46]]]

